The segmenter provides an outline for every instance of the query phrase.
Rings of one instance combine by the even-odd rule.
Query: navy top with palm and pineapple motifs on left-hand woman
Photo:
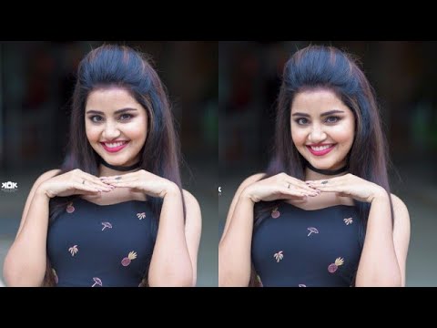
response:
[[[57,286],[137,287],[152,257],[155,222],[147,201],[70,202],[47,235]]]

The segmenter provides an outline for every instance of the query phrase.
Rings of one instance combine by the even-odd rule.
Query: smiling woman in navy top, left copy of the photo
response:
[[[9,286],[194,286],[201,218],[181,189],[164,86],[144,56],[81,61],[66,159],[30,191],[5,258]]]

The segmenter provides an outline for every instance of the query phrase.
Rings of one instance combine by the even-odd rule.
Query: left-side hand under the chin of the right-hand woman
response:
[[[242,192],[253,202],[259,200],[304,200],[307,196],[319,195],[318,190],[310,188],[304,181],[279,173],[268,179],[261,179],[252,183]]]

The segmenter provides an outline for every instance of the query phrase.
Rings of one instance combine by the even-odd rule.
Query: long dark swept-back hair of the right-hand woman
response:
[[[273,156],[263,179],[280,172],[304,179],[305,159],[294,143],[290,142],[291,105],[299,92],[320,88],[334,92],[355,117],[355,137],[348,154],[349,172],[380,185],[391,195],[387,172],[387,144],[382,133],[375,92],[361,71],[358,61],[332,46],[307,46],[291,56],[286,63],[279,90]],[[391,198],[389,199],[391,203]],[[254,229],[280,202],[278,200],[256,204]],[[362,247],[371,206],[369,203],[354,202],[361,218]]]

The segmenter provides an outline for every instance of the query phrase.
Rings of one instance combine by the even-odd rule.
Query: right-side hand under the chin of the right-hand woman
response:
[[[388,197],[381,186],[351,173],[332,179],[306,181],[306,183],[321,192],[337,192],[339,196],[369,203],[376,198]]]

